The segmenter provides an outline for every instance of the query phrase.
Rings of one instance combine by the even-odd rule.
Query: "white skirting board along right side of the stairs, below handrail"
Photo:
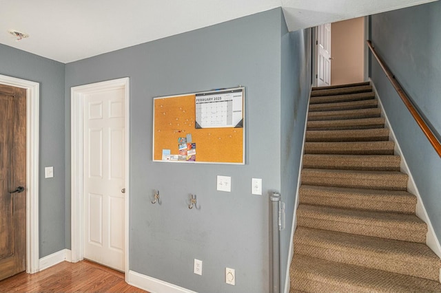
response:
[[[402,173],[406,173],[407,175],[409,175],[409,181],[407,182],[407,191],[409,191],[409,193],[412,193],[413,195],[415,195],[417,198],[416,215],[417,215],[417,217],[422,219],[422,221],[424,221],[427,224],[426,244],[427,244],[427,246],[429,246],[429,248],[431,250],[433,250],[433,252],[435,252],[436,255],[438,255],[438,257],[441,258],[440,242],[438,241],[438,239],[435,236],[435,230],[433,230],[433,226],[432,226],[432,223],[429,219],[429,215],[427,215],[426,208],[424,208],[424,204],[422,203],[420,192],[418,191],[418,188],[415,184],[415,181],[413,180],[413,176],[412,176],[412,173],[409,169],[409,166],[407,165],[406,158],[404,158],[404,155],[402,155],[400,143],[396,139],[395,133],[393,132],[391,124],[389,123],[389,119],[387,118],[387,114],[384,111],[384,107],[383,107],[382,102],[380,100],[380,96],[378,95],[378,91],[377,91],[375,85],[373,85],[373,82],[370,78],[369,78],[369,81],[371,82],[372,89],[373,89],[376,97],[378,98],[378,105],[380,106],[382,116],[385,119],[385,122],[384,122],[385,127],[387,127],[390,131],[389,137],[391,140],[393,140],[393,142],[395,142],[394,151],[396,154],[400,155],[400,157],[401,157],[400,171]],[[440,270],[440,276],[441,276],[441,270]]]

